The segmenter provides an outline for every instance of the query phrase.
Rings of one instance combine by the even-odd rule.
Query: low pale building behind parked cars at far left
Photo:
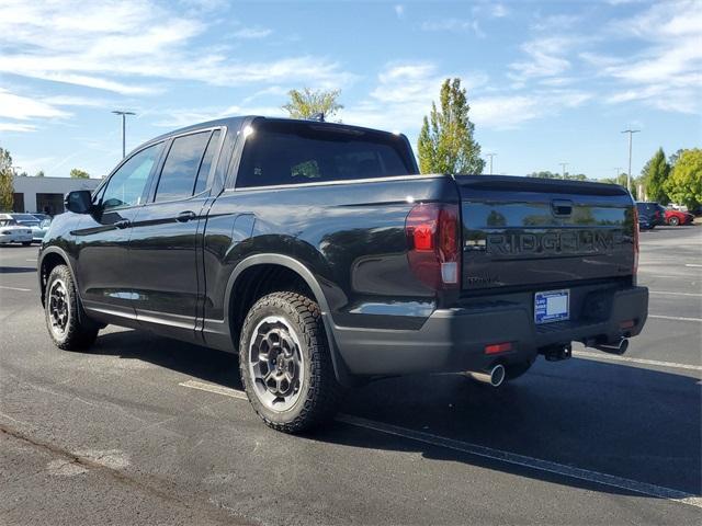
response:
[[[94,190],[102,179],[14,176],[13,211],[64,211],[64,196],[73,190]]]

